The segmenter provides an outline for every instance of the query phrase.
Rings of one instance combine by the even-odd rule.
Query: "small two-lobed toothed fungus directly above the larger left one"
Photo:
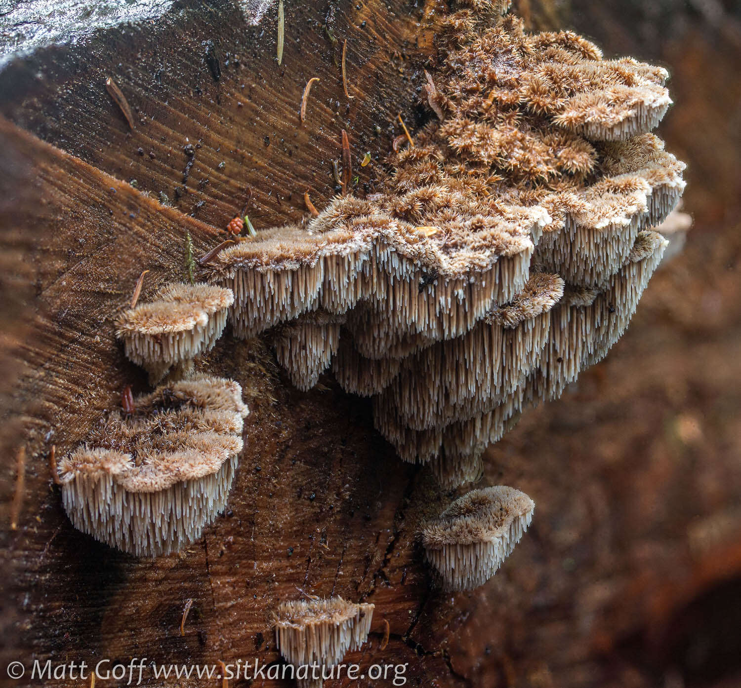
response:
[[[193,359],[213,348],[233,301],[233,293],[222,287],[166,284],[154,301],[119,315],[116,335],[127,358],[147,370],[150,384],[157,384],[171,368],[191,370]]]

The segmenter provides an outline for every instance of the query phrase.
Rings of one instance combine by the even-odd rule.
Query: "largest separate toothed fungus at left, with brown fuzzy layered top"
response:
[[[247,413],[239,384],[195,375],[111,414],[59,464],[73,525],[137,556],[190,544],[225,508]]]

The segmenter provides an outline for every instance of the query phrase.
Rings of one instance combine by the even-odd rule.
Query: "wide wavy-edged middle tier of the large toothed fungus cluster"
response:
[[[231,317],[245,338],[319,308],[343,315],[361,301],[376,330],[454,336],[525,284],[531,233],[548,220],[540,208],[500,210],[453,218],[428,235],[378,202],[339,198],[308,227],[268,230],[208,267],[233,290]]]

